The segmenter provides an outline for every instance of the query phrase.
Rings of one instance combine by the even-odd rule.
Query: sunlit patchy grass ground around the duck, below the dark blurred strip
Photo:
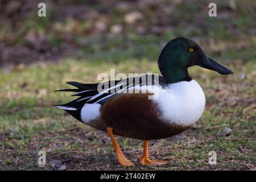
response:
[[[218,59],[216,59],[218,60]],[[207,106],[199,122],[174,138],[150,142],[150,155],[168,160],[161,167],[139,165],[142,142],[118,137],[127,158],[135,167],[121,168],[115,160],[108,135],[75,121],[52,104],[72,98],[56,89],[70,80],[96,82],[98,73],[110,68],[123,73],[157,73],[154,61],[126,60],[121,63],[65,60],[18,66],[1,71],[0,165],[1,169],[255,169],[255,60],[233,61],[234,75],[221,76],[199,67],[189,72],[202,86]],[[242,75],[242,77],[241,77]],[[225,128],[232,129],[230,134]],[[37,164],[40,150],[47,165]],[[217,152],[217,165],[208,164],[208,153]]]

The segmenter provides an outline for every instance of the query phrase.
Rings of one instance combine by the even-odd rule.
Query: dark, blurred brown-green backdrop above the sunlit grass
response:
[[[177,36],[192,38],[222,60],[255,57],[255,9],[246,1],[1,1],[1,63],[67,57],[119,63],[155,61]],[[210,2],[217,17],[208,16]]]

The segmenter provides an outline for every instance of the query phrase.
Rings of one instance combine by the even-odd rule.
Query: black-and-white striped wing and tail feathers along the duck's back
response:
[[[104,104],[108,98],[117,93],[133,88],[134,86],[159,85],[162,88],[166,87],[166,82],[162,76],[144,75],[139,77],[130,77],[123,80],[112,80],[100,82],[96,84],[84,84],[81,82],[69,81],[67,84],[75,86],[76,89],[61,89],[56,92],[76,92],[72,96],[79,96],[67,104],[55,105],[64,110],[81,109],[84,104]]]

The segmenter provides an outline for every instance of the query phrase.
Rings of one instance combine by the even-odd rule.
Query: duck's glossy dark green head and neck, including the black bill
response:
[[[188,67],[193,65],[217,71],[222,75],[233,73],[231,69],[210,59],[193,40],[183,37],[168,42],[158,59],[160,72],[167,84],[190,81],[192,78],[188,74]]]

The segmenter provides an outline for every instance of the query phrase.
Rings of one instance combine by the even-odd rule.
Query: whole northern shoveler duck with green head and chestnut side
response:
[[[122,166],[134,164],[123,155],[114,134],[144,140],[142,164],[166,164],[164,161],[148,159],[148,140],[182,133],[201,117],[205,96],[201,86],[188,74],[188,67],[193,65],[222,75],[233,73],[207,56],[194,41],[175,38],[160,53],[158,67],[162,76],[144,75],[108,81],[104,83],[107,86],[103,90],[98,90],[99,83],[67,82],[76,89],[56,91],[76,92],[72,96],[79,98],[55,106],[86,125],[108,132]],[[123,90],[140,92],[120,92]],[[155,97],[149,99],[149,96]]]

